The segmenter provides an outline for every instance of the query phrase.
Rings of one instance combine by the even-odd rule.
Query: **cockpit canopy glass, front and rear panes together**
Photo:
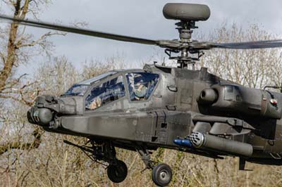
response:
[[[111,71],[74,84],[62,96],[85,96],[85,110],[95,110],[125,97],[127,93],[130,101],[146,101],[158,80],[158,74],[149,72]]]

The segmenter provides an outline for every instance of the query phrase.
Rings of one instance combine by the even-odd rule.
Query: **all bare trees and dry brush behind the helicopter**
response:
[[[47,0],[1,0],[8,4],[16,18],[37,15]],[[54,46],[48,38],[60,32],[47,32],[38,39],[15,23],[0,27],[0,186],[154,186],[151,171],[140,173],[145,167],[135,152],[118,149],[118,158],[128,165],[128,177],[114,184],[106,177],[103,166],[90,161],[80,150],[63,144],[63,139],[76,143],[84,138],[51,134],[28,124],[26,112],[36,96],[59,95],[69,86],[112,69],[128,67],[123,56],[104,61],[85,62],[76,69],[66,56],[54,57]],[[223,23],[209,36],[214,41],[250,41],[275,36],[250,25]],[[32,76],[18,74],[21,64],[34,56],[46,56]],[[161,58],[156,54],[155,58]],[[173,64],[173,62],[165,62]],[[212,50],[198,63],[209,72],[245,86],[262,88],[281,85],[281,51]],[[226,157],[214,160],[176,150],[159,148],[152,158],[166,162],[173,168],[171,186],[282,186],[281,167],[247,163],[252,172],[238,171],[238,160]]]

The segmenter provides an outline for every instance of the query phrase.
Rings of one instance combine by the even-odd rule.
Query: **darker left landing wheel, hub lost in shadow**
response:
[[[114,183],[120,183],[124,181],[128,175],[128,167],[123,161],[117,160],[116,165],[109,165],[106,173],[111,181]]]

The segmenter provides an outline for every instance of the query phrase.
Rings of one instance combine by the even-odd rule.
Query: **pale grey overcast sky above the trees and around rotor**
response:
[[[47,22],[60,21],[63,25],[71,22],[87,22],[88,29],[112,32],[115,34],[142,37],[147,39],[176,39],[173,20],[166,20],[162,14],[164,4],[168,2],[207,4],[211,16],[206,22],[199,22],[200,32],[209,33],[222,22],[237,22],[247,27],[248,24],[263,25],[269,33],[278,34],[282,39],[282,1],[281,0],[191,0],[191,1],[96,1],[68,0],[55,1],[39,16]],[[4,4],[1,11],[9,14]],[[0,23],[3,24],[3,23]],[[31,28],[35,35],[46,32]],[[66,37],[52,37],[56,45],[54,55],[65,55],[76,66],[90,59],[100,59],[124,53],[128,63],[149,59],[158,51],[157,47],[142,44],[130,44],[121,41],[85,37],[68,34]],[[134,65],[133,65],[134,66]]]

